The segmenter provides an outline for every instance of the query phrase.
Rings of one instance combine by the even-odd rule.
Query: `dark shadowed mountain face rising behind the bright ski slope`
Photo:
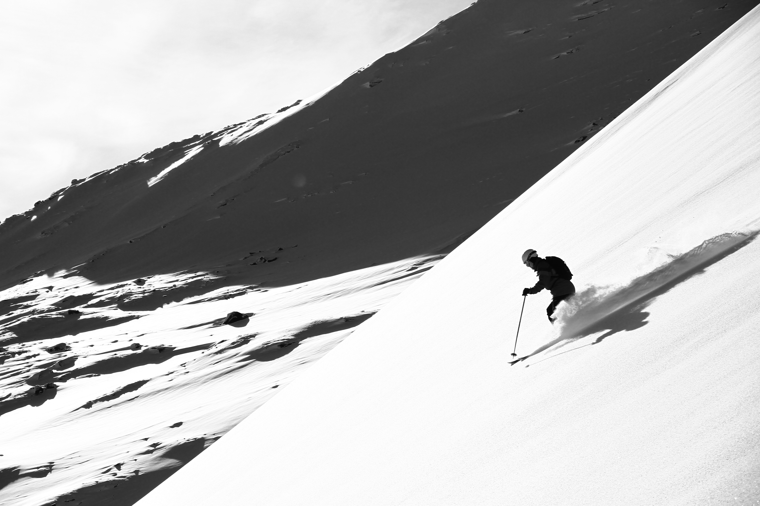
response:
[[[755,4],[481,0],[315,101],[8,218],[0,285],[76,266],[274,286],[445,252]]]

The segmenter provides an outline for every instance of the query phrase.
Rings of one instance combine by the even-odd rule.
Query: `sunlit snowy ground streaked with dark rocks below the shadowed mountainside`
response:
[[[33,278],[16,289],[31,296],[11,298],[33,313],[8,328],[26,341],[0,350],[2,498],[134,503],[439,259],[283,288],[221,288],[153,310],[150,300],[172,297],[178,284],[214,279],[97,286],[80,276]],[[74,303],[81,313],[68,314]],[[249,318],[220,325],[232,311]],[[33,339],[52,332],[62,337]],[[60,343],[68,349],[45,350]],[[49,382],[57,388],[32,394]]]

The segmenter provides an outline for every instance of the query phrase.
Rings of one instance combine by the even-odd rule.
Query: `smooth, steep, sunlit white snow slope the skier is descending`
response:
[[[756,504],[758,118],[755,8],[138,504]]]

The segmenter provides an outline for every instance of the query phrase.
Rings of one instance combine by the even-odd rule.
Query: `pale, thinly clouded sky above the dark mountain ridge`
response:
[[[472,0],[0,5],[0,220],[73,178],[274,112]]]

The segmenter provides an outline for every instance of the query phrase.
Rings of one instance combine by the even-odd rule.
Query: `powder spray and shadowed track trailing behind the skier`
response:
[[[567,303],[559,306],[557,316],[559,323],[562,324],[559,336],[534,350],[530,355],[538,354],[562,341],[574,341],[605,330],[608,331],[607,333],[619,332],[619,330],[632,330],[646,325],[647,322],[644,320],[649,313],[641,313],[641,310],[651,300],[745,247],[755,240],[758,234],[760,231],[734,232],[711,237],[686,253],[671,256],[668,262],[633,279],[628,284],[591,285],[585,288],[568,299]],[[617,323],[611,321],[616,319],[616,316],[622,316],[626,310],[633,310],[643,318],[638,318],[636,321],[622,318],[623,321]],[[627,328],[630,326],[633,328]],[[595,342],[601,341],[604,337],[606,335],[600,335]]]

